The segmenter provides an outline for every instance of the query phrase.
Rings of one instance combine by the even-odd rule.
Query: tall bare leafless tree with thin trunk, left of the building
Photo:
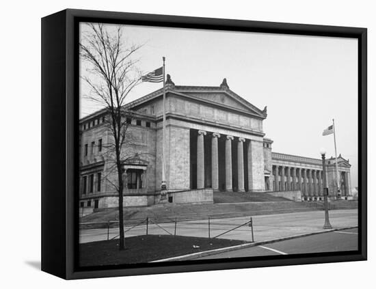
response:
[[[124,212],[122,180],[122,149],[126,143],[126,118],[132,115],[124,108],[126,97],[139,83],[134,60],[136,51],[142,45],[129,44],[124,40],[122,27],[105,27],[103,24],[88,23],[88,31],[82,34],[80,56],[88,63],[88,75],[81,79],[90,87],[90,98],[105,109],[105,124],[111,131],[113,143],[107,143],[113,152],[113,167],[117,180],[113,186],[119,197],[119,249],[124,249]],[[108,154],[107,154],[108,155]]]

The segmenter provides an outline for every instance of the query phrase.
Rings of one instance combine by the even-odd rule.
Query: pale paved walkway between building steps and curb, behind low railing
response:
[[[286,236],[319,232],[323,228],[324,212],[315,210],[310,212],[292,212],[276,215],[259,215],[252,217],[254,221],[254,238],[256,241],[271,240]],[[250,220],[250,217],[212,219],[211,237],[230,230]],[[334,228],[345,228],[358,225],[358,210],[332,210],[330,222]],[[174,234],[174,223],[159,224],[163,229]],[[176,226],[176,234],[180,236],[208,237],[208,219],[198,221],[180,221]],[[129,228],[125,228],[128,230]],[[148,226],[148,234],[168,234],[158,225]],[[109,229],[109,238],[118,236],[118,228]],[[139,236],[146,234],[146,225],[139,225],[125,233],[125,236]],[[250,227],[243,226],[229,232],[220,238],[232,240],[252,240]],[[81,230],[80,243],[106,240],[107,229]]]

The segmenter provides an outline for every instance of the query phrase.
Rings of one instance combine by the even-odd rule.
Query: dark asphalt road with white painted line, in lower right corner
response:
[[[358,249],[358,229],[351,229],[284,240],[277,243],[205,256],[195,260],[353,251],[356,249]]]

